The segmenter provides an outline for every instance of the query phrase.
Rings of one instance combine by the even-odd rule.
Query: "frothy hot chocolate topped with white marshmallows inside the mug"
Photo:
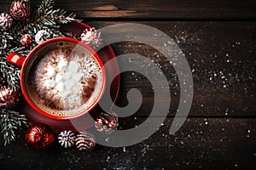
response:
[[[55,42],[35,55],[41,57],[31,62],[26,73],[26,91],[41,110],[74,116],[100,95],[102,68],[88,49],[73,42]]]

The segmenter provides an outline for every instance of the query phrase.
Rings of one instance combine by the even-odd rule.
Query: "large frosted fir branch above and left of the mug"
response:
[[[74,20],[75,14],[67,14],[64,9],[53,9],[54,4],[54,0],[43,0],[29,19],[16,21],[12,29],[1,31],[0,71],[12,85],[19,86],[20,71],[5,62],[8,54],[17,53],[26,56],[37,45],[34,42],[30,48],[21,46],[21,36],[29,34],[34,38],[38,31],[48,30],[52,37],[63,37],[64,35],[59,31],[60,24]]]

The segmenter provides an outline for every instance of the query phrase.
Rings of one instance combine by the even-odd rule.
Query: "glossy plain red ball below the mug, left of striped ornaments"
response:
[[[55,141],[52,130],[44,124],[32,123],[26,132],[26,146],[32,150],[47,150]]]

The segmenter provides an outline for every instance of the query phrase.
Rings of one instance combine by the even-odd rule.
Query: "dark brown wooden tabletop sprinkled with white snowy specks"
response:
[[[8,10],[9,3],[1,0],[1,11]],[[165,32],[189,62],[195,86],[193,104],[183,127],[169,134],[179,100],[172,65],[154,48],[137,42],[115,43],[117,55],[141,54],[162,66],[172,94],[163,126],[140,144],[125,148],[98,144],[90,152],[66,150],[57,144],[46,152],[34,152],[26,148],[21,133],[8,146],[1,140],[1,169],[256,169],[256,1],[55,3],[56,8],[66,8],[96,28],[131,22]],[[143,122],[154,104],[146,77],[126,72],[121,75],[117,105],[127,104],[126,93],[131,88],[139,89],[144,99],[133,116],[120,119],[123,129]]]

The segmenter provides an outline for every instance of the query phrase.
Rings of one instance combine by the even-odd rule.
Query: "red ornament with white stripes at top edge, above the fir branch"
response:
[[[11,3],[9,8],[9,14],[15,20],[25,20],[31,14],[31,5],[27,0],[16,0]]]

